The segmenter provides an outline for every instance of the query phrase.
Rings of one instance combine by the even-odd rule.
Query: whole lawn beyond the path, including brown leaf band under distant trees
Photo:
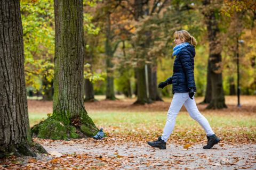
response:
[[[86,103],[85,107],[98,128],[103,128],[109,136],[155,138],[161,135],[166,122],[167,108],[172,98],[145,106],[133,106],[135,98],[103,100],[105,96],[96,96],[99,103]],[[236,96],[226,96],[227,109],[206,110],[198,105],[199,111],[207,118],[213,131],[226,141],[256,143],[255,96],[241,96],[242,107],[236,107]],[[199,103],[203,97],[197,97]],[[52,101],[29,100],[30,126],[39,123],[47,113],[52,112]],[[198,137],[198,138],[197,138]],[[193,120],[184,109],[178,114],[172,134],[173,140],[205,140],[202,127]]]

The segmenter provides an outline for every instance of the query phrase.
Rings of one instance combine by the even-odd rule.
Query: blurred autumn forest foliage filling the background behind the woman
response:
[[[222,73],[225,95],[237,93],[237,53],[241,94],[255,95],[255,11],[250,3],[213,1],[211,5],[215,9],[219,29],[214,41],[218,41],[221,47],[215,50],[220,50],[222,56],[218,71]],[[148,66],[149,83],[145,85],[157,90],[154,81],[164,81],[173,72],[173,32],[183,29],[188,30],[198,41],[195,57],[196,95],[204,96],[211,41],[207,37],[209,31],[204,11],[210,7],[201,1],[145,1],[140,18],[135,16],[133,8],[134,4],[130,1],[84,1],[85,99],[93,100],[94,94],[106,95],[107,99],[115,99],[115,94],[127,97],[137,94],[136,83],[140,77],[135,72],[141,61]],[[43,96],[44,100],[52,100],[53,2],[21,1],[21,15],[28,96],[37,94]],[[241,39],[244,43],[238,44],[237,40]],[[157,80],[153,80],[152,72],[156,74]],[[150,80],[154,88],[150,88]],[[89,92],[86,95],[86,89],[94,94]],[[160,98],[171,96],[171,86],[159,90],[158,94]],[[153,96],[150,91],[149,96]],[[145,102],[148,103],[148,100]]]

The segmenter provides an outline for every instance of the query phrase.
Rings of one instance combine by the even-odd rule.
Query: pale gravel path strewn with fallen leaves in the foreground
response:
[[[101,165],[97,160],[102,162],[102,166],[106,162],[119,163],[111,169],[256,169],[256,145],[225,144],[205,150],[203,144],[185,149],[168,143],[166,150],[159,150],[148,146],[145,141],[124,142],[114,137],[99,141],[91,138],[37,141],[52,155],[86,154],[94,157],[97,166]]]

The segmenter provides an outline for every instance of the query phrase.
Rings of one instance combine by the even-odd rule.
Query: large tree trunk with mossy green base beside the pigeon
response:
[[[91,137],[98,132],[83,104],[83,1],[55,0],[53,114],[36,125],[38,138]]]

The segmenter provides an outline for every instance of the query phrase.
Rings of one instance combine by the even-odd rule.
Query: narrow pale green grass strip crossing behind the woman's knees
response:
[[[98,126],[110,125],[119,126],[124,124],[126,126],[144,126],[150,127],[152,124],[159,124],[164,126],[166,121],[165,112],[119,112],[119,111],[94,111],[90,112],[89,116]],[[256,116],[249,115],[218,115],[218,114],[204,114],[213,128],[225,127],[247,127],[256,126]],[[39,121],[46,118],[45,114],[29,113],[30,126],[35,125]],[[199,126],[187,112],[180,112],[176,119],[175,126],[189,128],[190,126]],[[160,128],[160,127],[159,127]]]

